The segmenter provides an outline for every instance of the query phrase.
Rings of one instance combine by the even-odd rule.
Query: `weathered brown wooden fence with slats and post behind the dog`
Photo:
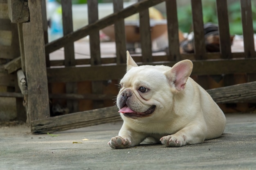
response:
[[[8,3],[14,3],[15,1],[8,0]],[[168,54],[153,56],[148,8],[164,1],[167,9]],[[21,70],[17,73],[31,131],[35,134],[91,126],[120,119],[117,108],[115,106],[106,108],[109,105],[109,102],[106,104],[106,101],[111,101],[115,98],[113,96],[117,95],[118,91],[115,84],[125,73],[126,40],[124,18],[135,13],[139,13],[141,37],[141,56],[133,57],[137,63],[173,66],[179,60],[192,60],[194,64],[192,76],[199,83],[202,83],[202,86],[205,84],[205,77],[209,77],[209,75],[213,77],[213,75],[232,74],[234,78],[236,76],[239,77],[242,73],[247,76],[246,82],[256,81],[256,55],[251,0],[240,1],[244,30],[244,52],[242,53],[231,53],[227,0],[216,0],[220,35],[219,53],[206,52],[202,2],[201,0],[191,0],[195,52],[190,54],[180,53],[179,51],[176,0],[139,0],[139,2],[125,9],[123,8],[122,0],[113,0],[114,13],[100,20],[97,12],[98,1],[88,0],[89,24],[77,31],[73,31],[72,27],[71,0],[61,0],[64,35],[62,38],[52,42],[48,42],[47,38],[45,1],[33,0],[27,3],[29,22],[22,21],[22,24],[18,23]],[[112,24],[115,24],[116,57],[102,58],[99,30]],[[90,59],[75,59],[74,42],[87,35],[90,35]],[[65,59],[49,60],[49,54],[62,47],[64,47]],[[11,66],[12,64],[13,62],[9,63]],[[227,77],[230,80],[230,76]],[[103,84],[108,80],[112,80],[112,84],[106,88]],[[207,83],[209,82],[207,81]],[[234,82],[233,84],[237,83],[239,82]],[[228,85],[232,85],[232,83]],[[79,94],[81,86],[89,90],[87,89],[86,93]],[[217,85],[216,87],[220,86],[222,85]],[[63,88],[61,93],[59,88]],[[109,89],[112,89],[115,94],[105,93]],[[239,92],[239,95],[241,93],[244,93],[244,91]],[[13,96],[20,97],[20,93]],[[51,117],[51,104],[56,99],[65,99],[67,108],[72,114]],[[244,102],[246,99],[246,97],[243,97],[241,100]],[[248,99],[252,100],[253,97],[250,96]],[[79,110],[79,105],[84,104],[81,101],[87,101],[94,110],[79,112],[81,111],[81,109]],[[223,102],[223,100],[221,101]],[[232,100],[230,101],[232,102]],[[239,102],[239,97],[236,102]]]

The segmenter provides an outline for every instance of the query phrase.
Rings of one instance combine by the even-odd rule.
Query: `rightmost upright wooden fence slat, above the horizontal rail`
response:
[[[254,50],[254,30],[252,24],[251,0],[240,0],[243,24],[245,57],[256,57]]]

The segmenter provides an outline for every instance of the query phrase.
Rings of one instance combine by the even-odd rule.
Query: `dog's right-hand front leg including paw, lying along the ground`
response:
[[[161,143],[167,147],[180,147],[186,144],[200,144],[204,142],[205,130],[197,125],[183,128],[173,135],[167,135],[160,139]]]

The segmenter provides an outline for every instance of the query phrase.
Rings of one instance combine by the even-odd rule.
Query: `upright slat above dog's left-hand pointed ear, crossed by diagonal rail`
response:
[[[119,12],[123,7],[124,0],[113,0],[114,12]],[[126,36],[124,19],[115,22],[115,43],[117,64],[126,63]]]

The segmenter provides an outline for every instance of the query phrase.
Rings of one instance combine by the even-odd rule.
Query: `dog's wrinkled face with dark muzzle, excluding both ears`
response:
[[[156,81],[155,77],[159,80]],[[161,81],[162,86],[159,86]],[[117,96],[119,112],[130,118],[151,115],[163,102],[159,90],[166,84],[166,77],[154,66],[131,68],[120,82]]]

